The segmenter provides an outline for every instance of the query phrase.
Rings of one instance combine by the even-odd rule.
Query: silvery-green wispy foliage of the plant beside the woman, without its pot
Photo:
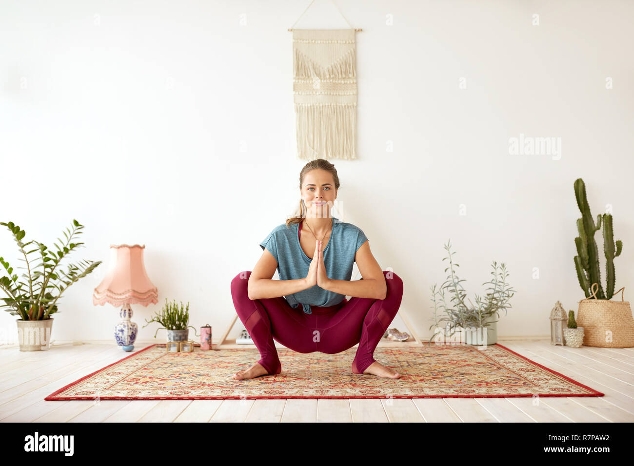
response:
[[[473,302],[467,297],[465,289],[462,287],[461,282],[465,282],[465,279],[460,280],[456,273],[456,269],[459,264],[453,262],[453,254],[451,252],[450,241],[444,245],[444,249],[448,252],[449,256],[444,257],[443,261],[449,259],[449,266],[444,271],[450,271],[447,276],[447,280],[437,289],[435,284],[431,287],[432,299],[434,303],[434,317],[430,320],[434,321],[434,324],[429,327],[431,330],[434,327],[440,327],[439,323],[446,322],[450,329],[450,334],[445,337],[451,337],[456,330],[465,329],[469,327],[488,327],[489,323],[495,323],[496,321],[487,320],[496,314],[498,319],[500,318],[500,310],[504,309],[506,314],[507,308],[512,307],[508,301],[515,294],[515,290],[507,283],[508,271],[504,262],[501,262],[498,268],[498,263],[493,261],[491,266],[493,271],[493,280],[484,282],[482,285],[490,285],[486,290],[488,291],[484,299],[481,296],[475,295],[475,306]],[[453,296],[450,299],[450,304],[447,303],[445,292],[451,292]],[[469,301],[470,306],[465,304],[465,299]],[[446,316],[438,318],[438,311],[442,309]],[[429,339],[434,339],[436,333]]]

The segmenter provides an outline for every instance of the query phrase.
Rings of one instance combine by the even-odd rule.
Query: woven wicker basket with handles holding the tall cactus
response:
[[[597,299],[597,290],[598,283],[593,283],[592,297],[579,301],[577,325],[584,329],[583,344],[602,348],[634,347],[634,318],[630,302],[623,301],[625,287],[619,290],[621,301]]]

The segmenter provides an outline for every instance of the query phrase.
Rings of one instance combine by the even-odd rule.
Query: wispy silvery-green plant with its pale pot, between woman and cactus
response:
[[[500,311],[503,309],[505,314],[511,305],[508,301],[515,294],[515,290],[507,283],[508,272],[504,262],[498,268],[498,263],[493,262],[491,266],[493,271],[493,280],[484,282],[482,285],[489,285],[487,294],[482,299],[479,295],[475,295],[475,306],[467,293],[460,284],[465,280],[460,280],[456,273],[458,264],[453,262],[453,252],[451,252],[451,244],[448,241],[444,246],[449,256],[444,257],[443,261],[449,259],[449,265],[444,271],[450,271],[447,280],[437,289],[434,285],[432,290],[432,302],[434,303],[434,317],[431,319],[434,324],[429,327],[436,328],[434,335],[429,339],[436,342],[454,342],[456,336],[459,336],[459,342],[466,342],[473,345],[491,345],[497,342],[497,320],[500,318]],[[453,296],[448,303],[445,292],[450,292]],[[470,306],[465,303],[465,299],[469,301]],[[442,309],[446,314],[442,318],[438,318],[438,311]],[[441,322],[445,322],[445,328],[441,326]],[[458,335],[456,335],[456,332]]]

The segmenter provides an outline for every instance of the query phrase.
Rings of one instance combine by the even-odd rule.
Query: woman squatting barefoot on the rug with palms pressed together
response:
[[[274,339],[299,353],[335,354],[359,343],[353,373],[401,377],[373,353],[401,306],[403,281],[381,270],[360,228],[332,216],[338,189],[334,165],[306,164],[299,175],[301,216],[273,229],[253,271],[231,281],[236,312],[261,355],[234,379],[280,373]],[[350,280],[354,262],[361,280]],[[276,269],[280,280],[271,280]]]

